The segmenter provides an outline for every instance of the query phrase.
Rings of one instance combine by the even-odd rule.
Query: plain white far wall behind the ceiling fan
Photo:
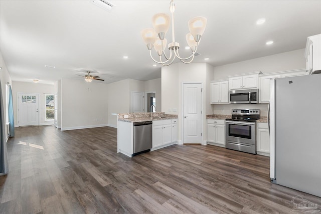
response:
[[[61,130],[107,126],[108,85],[61,80]]]

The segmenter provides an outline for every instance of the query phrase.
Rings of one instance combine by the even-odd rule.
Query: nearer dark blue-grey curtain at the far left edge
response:
[[[5,111],[0,82],[0,175],[8,174],[7,142],[5,131]]]

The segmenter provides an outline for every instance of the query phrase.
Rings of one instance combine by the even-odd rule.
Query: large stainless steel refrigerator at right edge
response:
[[[321,74],[270,80],[270,178],[321,197]]]

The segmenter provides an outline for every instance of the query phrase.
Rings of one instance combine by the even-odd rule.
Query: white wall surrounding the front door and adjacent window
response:
[[[39,125],[53,125],[54,121],[46,121],[46,95],[54,94],[54,85],[41,84],[41,83],[28,83],[28,82],[12,82],[13,105],[15,115],[15,126],[18,124],[18,93],[32,93],[39,94]]]

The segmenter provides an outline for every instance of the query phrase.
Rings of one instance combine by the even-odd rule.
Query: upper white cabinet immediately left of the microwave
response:
[[[229,103],[229,81],[211,83],[211,103]]]

